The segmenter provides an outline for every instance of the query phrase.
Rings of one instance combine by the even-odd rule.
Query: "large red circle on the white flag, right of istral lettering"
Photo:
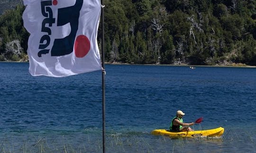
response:
[[[78,58],[83,58],[91,48],[90,40],[85,35],[79,35],[75,39],[74,52]]]

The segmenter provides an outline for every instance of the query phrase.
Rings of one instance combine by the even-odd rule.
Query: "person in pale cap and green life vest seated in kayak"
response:
[[[170,125],[170,131],[194,131],[191,127],[183,127],[183,126],[192,126],[194,125],[193,122],[191,123],[183,123],[183,115],[185,115],[185,113],[183,113],[181,110],[178,110],[176,112],[176,116],[172,119],[171,125]]]

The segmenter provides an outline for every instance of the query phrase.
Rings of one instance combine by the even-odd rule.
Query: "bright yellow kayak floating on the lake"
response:
[[[155,129],[151,132],[152,135],[162,135],[170,137],[219,137],[224,133],[223,127],[218,127],[208,130],[188,131],[188,132],[171,132],[165,129]]]

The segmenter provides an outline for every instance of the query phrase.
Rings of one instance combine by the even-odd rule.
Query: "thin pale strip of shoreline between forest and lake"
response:
[[[13,62],[13,63],[29,63],[29,61],[0,61],[1,62]],[[241,63],[233,63],[229,65],[187,65],[187,64],[130,64],[120,62],[105,62],[110,65],[148,65],[148,66],[178,66],[178,67],[216,67],[216,68],[256,68],[256,66],[249,66]]]

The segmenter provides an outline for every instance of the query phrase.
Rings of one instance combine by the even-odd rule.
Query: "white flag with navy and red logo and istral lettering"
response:
[[[32,76],[63,77],[101,69],[100,0],[23,0]]]

